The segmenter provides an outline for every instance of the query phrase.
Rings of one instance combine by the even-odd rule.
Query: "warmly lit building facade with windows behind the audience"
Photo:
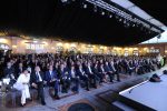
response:
[[[86,44],[80,42],[56,41],[51,39],[23,39],[18,37],[0,37],[0,50],[12,50],[12,53],[105,53],[114,56],[153,56],[167,54],[166,43],[147,43],[131,47],[106,47],[97,44]]]

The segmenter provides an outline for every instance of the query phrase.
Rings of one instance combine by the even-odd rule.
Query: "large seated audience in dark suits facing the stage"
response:
[[[38,99],[45,105],[43,87],[59,92],[69,90],[79,92],[82,84],[86,90],[97,88],[102,82],[120,81],[119,74],[144,74],[160,68],[155,57],[112,57],[105,54],[10,54],[1,58],[1,78],[10,78],[10,84],[21,91],[21,105],[31,100],[29,88],[38,90]]]

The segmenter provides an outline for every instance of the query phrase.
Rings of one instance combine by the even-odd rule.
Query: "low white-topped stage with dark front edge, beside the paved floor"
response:
[[[167,75],[161,82],[148,80],[119,92],[120,101],[138,110],[167,111]]]

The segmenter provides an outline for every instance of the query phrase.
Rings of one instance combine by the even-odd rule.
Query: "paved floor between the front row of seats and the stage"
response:
[[[91,89],[90,91],[80,89],[78,94],[66,97],[60,100],[52,100],[49,95],[48,89],[46,89],[47,105],[41,105],[37,101],[32,101],[24,108],[1,107],[0,111],[67,111],[67,108],[76,102],[89,103],[96,109],[96,111],[111,111],[111,102],[116,100],[116,94],[118,94],[119,91],[148,79],[153,73],[163,73],[163,70],[165,69],[167,69],[167,65],[151,73],[128,77],[122,79],[121,82],[104,83],[102,87]]]

